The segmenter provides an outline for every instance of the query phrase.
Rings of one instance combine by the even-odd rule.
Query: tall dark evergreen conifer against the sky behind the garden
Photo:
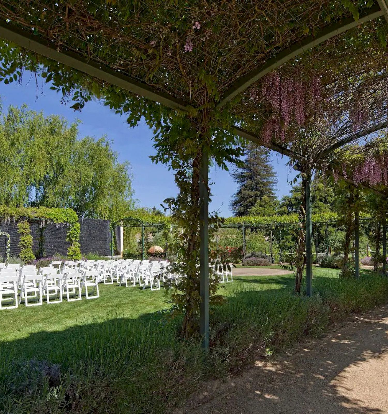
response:
[[[268,150],[251,144],[247,148],[244,166],[232,173],[239,188],[233,195],[230,207],[235,216],[244,216],[257,201],[268,197],[275,199],[276,173],[268,159]]]

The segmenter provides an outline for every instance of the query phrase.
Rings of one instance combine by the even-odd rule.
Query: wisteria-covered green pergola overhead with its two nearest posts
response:
[[[24,66],[60,85],[71,78],[72,68],[85,74],[78,86],[91,94],[105,88],[108,100],[120,92],[123,101],[151,100],[191,119],[206,112],[218,120],[226,137],[237,135],[298,161],[308,173],[307,293],[311,294],[311,168],[327,167],[335,151],[350,143],[366,153],[377,135],[387,130],[387,0],[0,0],[0,17],[0,37],[16,45],[9,52],[14,62],[6,55],[1,71],[7,82],[11,76],[16,80],[17,67]],[[292,111],[279,92],[287,94],[287,88],[279,89],[279,82],[289,85]],[[62,87],[64,96],[71,92]],[[74,99],[74,108],[81,108],[82,94]],[[332,122],[319,118],[330,128],[319,140],[311,138],[309,148],[302,147],[297,131],[314,117],[318,104],[321,113],[332,114]],[[110,106],[115,108],[114,103]],[[309,109],[301,112],[303,106]],[[198,131],[202,133],[201,125]],[[199,180],[205,347],[208,150],[204,147],[202,152]],[[361,185],[370,188],[370,183]]]

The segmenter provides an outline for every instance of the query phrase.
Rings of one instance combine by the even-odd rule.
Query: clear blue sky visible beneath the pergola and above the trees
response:
[[[41,83],[40,83],[41,84]],[[82,112],[74,112],[69,106],[60,103],[60,94],[44,85],[38,90],[35,79],[29,79],[24,74],[22,85],[14,82],[9,85],[1,83],[0,96],[3,110],[9,105],[21,106],[26,103],[35,111],[43,111],[45,115],[58,114],[72,123],[81,120],[79,137],[91,136],[99,138],[106,135],[112,141],[112,147],[119,154],[120,161],[129,161],[132,168],[132,186],[134,196],[140,207],[159,207],[166,197],[174,196],[177,188],[174,183],[172,171],[161,164],[153,164],[149,156],[155,153],[152,147],[152,132],[142,123],[136,128],[129,128],[125,118],[116,115],[102,103],[86,103]],[[295,171],[285,165],[286,158],[281,159],[272,154],[271,162],[278,175],[278,197],[282,197],[290,190],[290,181]],[[211,188],[213,197],[209,208],[217,211],[223,217],[231,215],[229,204],[237,185],[233,182],[228,171],[211,168],[210,178],[214,181]]]

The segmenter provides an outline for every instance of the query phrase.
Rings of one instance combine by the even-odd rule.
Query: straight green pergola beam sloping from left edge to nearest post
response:
[[[78,53],[67,50],[58,51],[57,49],[59,48],[54,43],[48,43],[12,23],[0,21],[0,38],[86,73],[86,75],[101,79],[134,94],[144,96],[144,98],[151,99],[151,101],[162,103],[172,109],[187,111],[186,103],[176,99],[174,96],[158,91],[143,82],[139,82],[117,70],[112,70],[110,67],[96,63],[91,59],[86,59]]]

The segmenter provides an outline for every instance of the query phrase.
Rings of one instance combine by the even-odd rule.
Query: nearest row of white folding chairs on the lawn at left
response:
[[[22,301],[25,306],[42,305],[44,296],[47,303],[62,303],[64,294],[67,301],[78,301],[82,299],[82,289],[85,289],[86,299],[98,298],[97,277],[96,271],[81,273],[67,269],[59,273],[51,266],[42,267],[39,271],[33,265],[19,270],[16,267],[3,268],[0,270],[0,309],[17,308]]]

